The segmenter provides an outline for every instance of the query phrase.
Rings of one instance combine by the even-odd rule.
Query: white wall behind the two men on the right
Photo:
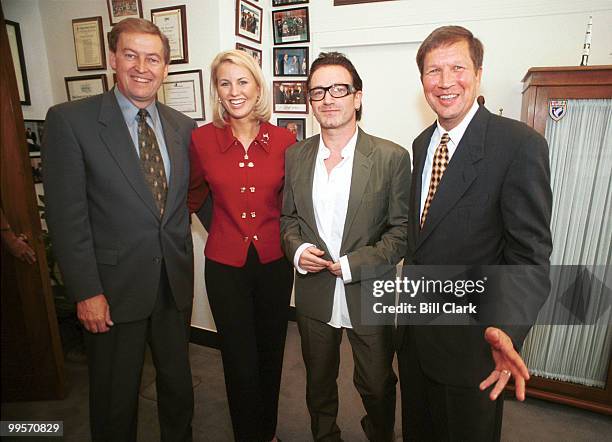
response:
[[[409,147],[435,119],[422,98],[414,60],[433,29],[458,24],[480,38],[485,46],[481,94],[486,106],[492,112],[503,108],[503,115],[520,119],[521,79],[527,69],[578,65],[589,15],[589,64],[612,64],[609,0],[396,0],[342,7],[317,0],[310,2],[311,57],[332,49],[356,57],[364,77],[362,126]],[[395,56],[385,60],[384,54]],[[374,81],[368,82],[370,78]]]

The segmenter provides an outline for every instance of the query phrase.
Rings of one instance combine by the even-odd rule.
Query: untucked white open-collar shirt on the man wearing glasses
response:
[[[344,223],[346,211],[351,193],[351,179],[353,177],[353,159],[355,158],[355,146],[357,144],[357,130],[342,149],[342,160],[328,174],[325,160],[331,155],[329,148],[325,146],[323,137],[319,141],[319,150],[315,162],[314,179],[312,183],[312,204],[314,207],[315,220],[319,236],[325,242],[327,250],[334,262],[340,262],[342,277],[336,278],[334,289],[334,305],[332,308],[329,325],[336,328],[353,328],[351,318],[346,304],[346,292],[344,284],[351,282],[351,268],[346,255],[340,255],[342,235],[344,234]],[[299,266],[302,252],[313,244],[304,243],[295,252],[293,264],[298,272],[307,273]],[[321,270],[327,272],[328,270]]]

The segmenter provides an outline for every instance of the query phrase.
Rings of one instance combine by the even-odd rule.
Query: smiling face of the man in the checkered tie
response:
[[[441,46],[425,55],[423,92],[440,125],[451,130],[469,112],[476,100],[482,68],[476,68],[464,40]]]

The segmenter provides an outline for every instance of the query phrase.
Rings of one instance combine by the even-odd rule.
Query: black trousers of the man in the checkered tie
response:
[[[500,440],[503,394],[491,401],[489,390],[480,391],[478,385],[445,385],[429,378],[421,369],[412,337],[405,339],[398,362],[404,442]]]

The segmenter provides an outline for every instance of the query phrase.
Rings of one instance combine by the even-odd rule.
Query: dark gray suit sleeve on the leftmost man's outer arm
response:
[[[47,113],[44,138],[46,221],[64,283],[78,302],[104,292],[89,222],[85,162],[61,110]]]

